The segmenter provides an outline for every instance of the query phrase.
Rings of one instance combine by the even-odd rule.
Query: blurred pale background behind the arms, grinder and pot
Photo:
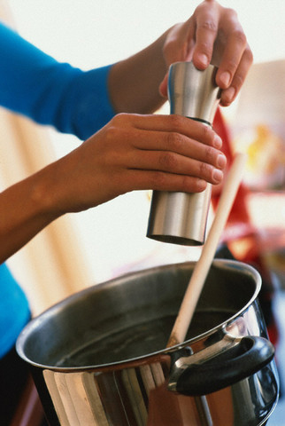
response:
[[[0,18],[59,61],[90,69],[143,49],[174,23],[187,20],[199,3],[0,0]],[[285,3],[220,0],[220,4],[238,13],[254,54],[241,95],[233,106],[223,108],[222,114],[233,151],[238,148],[248,154],[246,206],[250,223],[258,230],[258,250],[270,272],[278,356],[284,359]],[[167,104],[162,112],[168,114]],[[4,110],[0,110],[0,122],[0,188],[81,143]],[[81,288],[119,274],[198,258],[201,248],[146,238],[150,196],[144,191],[128,193],[96,209],[61,217],[12,256],[8,263],[25,288],[34,314]],[[237,240],[233,247],[239,253],[244,241]],[[273,426],[283,424],[277,415],[270,421]]]

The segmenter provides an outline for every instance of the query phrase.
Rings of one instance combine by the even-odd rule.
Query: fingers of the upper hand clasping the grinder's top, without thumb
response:
[[[215,1],[204,1],[186,24],[189,43],[191,38],[196,43],[192,52],[194,65],[204,69],[211,62],[219,67],[216,82],[222,89],[220,104],[229,105],[240,91],[253,61],[236,12]]]

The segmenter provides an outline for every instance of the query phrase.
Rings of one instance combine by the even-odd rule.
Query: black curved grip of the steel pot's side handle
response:
[[[176,382],[176,391],[189,396],[215,392],[254,375],[273,356],[273,344],[266,338],[245,336],[234,347],[215,358],[186,367]]]

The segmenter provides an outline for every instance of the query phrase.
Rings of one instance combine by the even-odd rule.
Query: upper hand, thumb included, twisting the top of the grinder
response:
[[[236,12],[214,0],[204,0],[189,20],[168,32],[164,55],[167,67],[173,62],[189,60],[193,60],[198,69],[210,63],[219,67],[216,83],[222,89],[222,106],[233,102],[253,61]],[[160,92],[166,97],[167,75]]]

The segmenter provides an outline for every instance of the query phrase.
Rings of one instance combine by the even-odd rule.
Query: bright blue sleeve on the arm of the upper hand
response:
[[[78,138],[115,114],[108,93],[112,65],[82,71],[51,58],[0,22],[0,105]]]

